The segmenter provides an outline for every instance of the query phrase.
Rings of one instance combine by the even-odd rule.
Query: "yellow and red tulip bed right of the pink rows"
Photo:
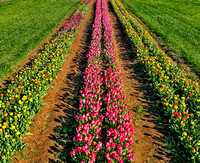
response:
[[[159,49],[148,31],[124,8],[119,0],[112,6],[129,37],[133,50],[169,116],[172,131],[179,139],[191,162],[200,162],[200,92],[198,83],[187,78],[176,63]]]

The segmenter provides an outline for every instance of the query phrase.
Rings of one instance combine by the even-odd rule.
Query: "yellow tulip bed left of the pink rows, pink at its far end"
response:
[[[86,1],[64,24],[55,39],[45,45],[23,70],[0,93],[0,162],[13,159],[14,152],[25,147],[23,137],[28,135],[35,113],[40,111],[42,97],[61,70],[67,52],[80,28],[90,1]]]

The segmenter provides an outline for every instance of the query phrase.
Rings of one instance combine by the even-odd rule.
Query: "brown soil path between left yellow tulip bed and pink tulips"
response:
[[[85,70],[83,62],[90,27],[93,23],[91,20],[94,5],[93,1],[72,44],[71,52],[68,53],[62,65],[63,71],[59,72],[58,78],[52,82],[54,89],[49,89],[42,100],[47,105],[41,107],[41,112],[33,119],[35,127],[31,127],[29,131],[33,135],[26,136],[24,139],[24,143],[28,145],[22,152],[16,154],[20,160],[15,160],[14,163],[55,162],[56,152],[63,150],[63,147],[55,141],[57,137],[55,131],[64,119],[74,117],[75,108],[68,104],[67,100],[73,96],[74,83],[82,80]]]

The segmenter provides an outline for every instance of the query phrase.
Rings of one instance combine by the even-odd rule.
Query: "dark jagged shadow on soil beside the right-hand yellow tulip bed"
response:
[[[108,3],[108,6],[114,14],[114,10],[110,2]],[[122,54],[119,56],[120,59],[131,61],[129,62],[131,64],[124,64],[122,66],[126,71],[131,73],[130,79],[134,79],[139,83],[142,83],[141,87],[136,87],[135,89],[138,91],[142,91],[144,94],[142,98],[148,101],[148,105],[144,106],[144,112],[147,114],[144,114],[141,120],[154,123],[155,127],[153,128],[162,133],[164,136],[160,138],[157,136],[152,136],[148,133],[145,133],[145,135],[151,137],[152,139],[156,140],[156,142],[158,142],[157,145],[159,145],[160,148],[158,148],[159,151],[157,153],[159,153],[161,156],[165,155],[170,158],[170,162],[187,162],[187,155],[178,139],[178,135],[169,129],[169,117],[162,110],[162,105],[159,103],[159,99],[156,96],[157,92],[155,92],[155,90],[151,87],[147,73],[145,72],[144,68],[139,63],[139,60],[136,57],[136,50],[132,48],[129,38],[126,37],[126,34],[123,32],[123,30],[120,30],[123,29],[123,26],[118,18],[113,28],[119,29],[118,31],[121,31],[115,33],[116,41],[120,43],[120,51],[122,51]],[[134,114],[137,114],[135,109],[133,109],[132,111],[134,112]],[[150,128],[150,126],[143,127]],[[165,146],[161,144],[164,144]],[[153,155],[153,157],[158,159],[159,161],[163,160],[162,157],[157,155]]]

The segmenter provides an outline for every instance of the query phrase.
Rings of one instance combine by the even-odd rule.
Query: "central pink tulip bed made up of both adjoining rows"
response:
[[[87,54],[84,88],[80,90],[74,162],[132,162],[134,129],[116,68],[113,29],[105,0],[97,0],[92,41]]]

